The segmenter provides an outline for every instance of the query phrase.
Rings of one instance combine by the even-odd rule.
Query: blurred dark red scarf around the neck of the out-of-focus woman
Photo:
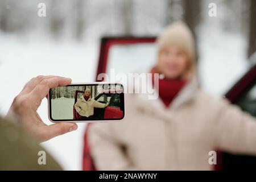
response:
[[[153,74],[157,73],[156,69],[153,68],[151,71]],[[154,84],[154,75],[152,82]],[[180,92],[180,90],[183,88],[183,86],[186,84],[185,80],[176,79],[176,80],[168,80],[167,78],[159,79],[159,97],[163,101],[164,105],[166,107],[169,107],[174,100],[174,98],[177,96],[177,94]]]

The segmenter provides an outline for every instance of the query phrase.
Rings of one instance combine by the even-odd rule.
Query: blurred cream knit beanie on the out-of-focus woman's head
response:
[[[158,53],[166,46],[179,46],[185,51],[189,60],[195,63],[195,40],[188,26],[183,22],[175,22],[164,28],[156,40]]]

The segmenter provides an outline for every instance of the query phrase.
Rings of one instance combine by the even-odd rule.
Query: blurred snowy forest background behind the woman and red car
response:
[[[39,3],[46,5],[45,17],[38,16]],[[209,16],[210,3],[216,4],[216,16]],[[195,34],[201,86],[222,96],[252,64],[255,18],[253,0],[1,0],[0,114],[37,75],[95,81],[101,38],[157,36],[175,20],[184,20]],[[118,60],[125,59],[126,50],[117,52]],[[154,51],[151,55],[154,61]],[[81,67],[82,75],[77,71]],[[47,100],[39,114],[50,124]],[[82,168],[85,127],[80,123],[76,132],[42,143],[64,169]]]

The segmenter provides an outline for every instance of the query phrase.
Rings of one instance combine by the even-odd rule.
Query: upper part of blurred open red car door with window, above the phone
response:
[[[110,74],[111,69],[118,74],[152,68],[156,62],[155,40],[154,37],[102,38],[96,81],[102,81],[97,76],[100,73]]]

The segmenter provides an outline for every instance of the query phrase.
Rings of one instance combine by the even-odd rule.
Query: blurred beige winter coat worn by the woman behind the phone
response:
[[[187,84],[164,107],[160,99],[126,94],[122,122],[89,127],[98,169],[210,170],[209,152],[256,154],[256,121],[223,98]]]

